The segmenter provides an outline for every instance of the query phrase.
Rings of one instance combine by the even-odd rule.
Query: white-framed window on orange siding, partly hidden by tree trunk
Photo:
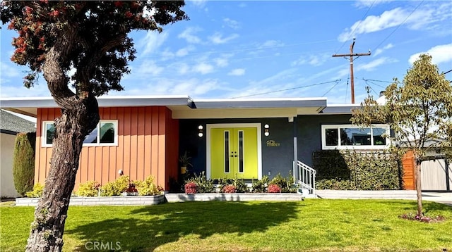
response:
[[[55,134],[54,122],[43,122],[44,132],[42,134],[42,146],[52,147]],[[118,144],[118,121],[101,120],[95,129],[85,137],[83,146],[117,146]]]

